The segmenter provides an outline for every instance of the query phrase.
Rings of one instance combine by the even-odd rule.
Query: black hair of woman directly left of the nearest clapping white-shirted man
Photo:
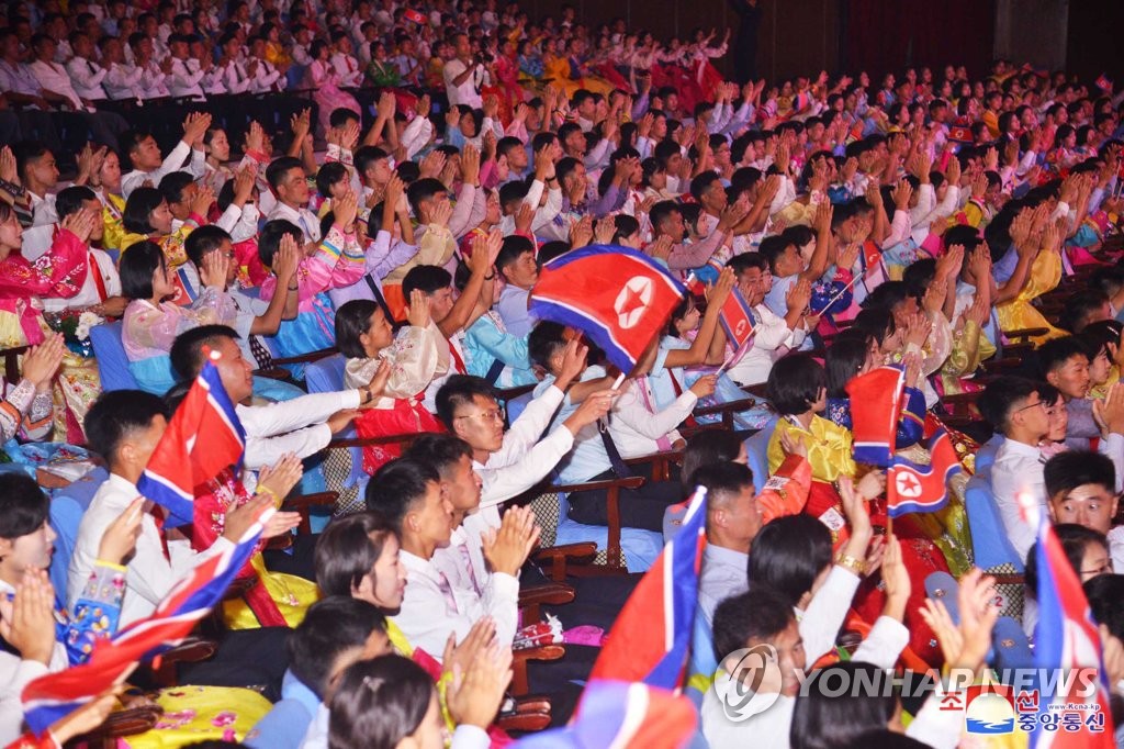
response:
[[[316,540],[316,585],[326,596],[350,596],[371,574],[395,529],[378,513],[334,518]]]

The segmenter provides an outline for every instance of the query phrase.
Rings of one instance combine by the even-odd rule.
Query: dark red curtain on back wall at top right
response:
[[[995,34],[992,0],[844,0],[844,61],[849,71],[867,71],[877,87],[881,75],[904,67],[963,64],[972,78],[986,74]]]

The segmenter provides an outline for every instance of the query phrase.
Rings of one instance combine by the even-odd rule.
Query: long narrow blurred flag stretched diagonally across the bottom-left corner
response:
[[[223,601],[238,570],[254,553],[263,523],[277,512],[266,507],[237,544],[205,558],[156,606],[155,613],[99,641],[90,659],[57,674],[42,676],[24,688],[28,728],[42,736],[52,723],[126,678],[133,666],[180,643]]]

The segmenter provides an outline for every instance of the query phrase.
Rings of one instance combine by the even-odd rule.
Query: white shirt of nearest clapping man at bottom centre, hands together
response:
[[[495,572],[482,595],[447,577],[433,560],[401,552],[406,567],[406,594],[402,607],[391,617],[415,648],[436,659],[445,652],[451,632],[460,642],[481,616],[496,622],[496,640],[508,647],[518,628],[519,581],[505,572]],[[435,655],[436,653],[436,655]]]

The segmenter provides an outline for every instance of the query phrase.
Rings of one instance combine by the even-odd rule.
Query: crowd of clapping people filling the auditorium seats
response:
[[[1124,92],[1007,61],[731,81],[731,40],[496,0],[9,3],[0,739],[61,746],[158,705],[178,746],[502,746],[528,684],[563,724],[652,559],[626,539],[605,563],[629,574],[570,578],[574,603],[525,616],[551,572],[555,529],[526,504],[545,482],[588,485],[558,523],[602,552],[606,527],[659,549],[708,489],[700,743],[958,746],[940,688],[903,729],[892,694],[860,709],[800,677],[839,652],[872,678],[976,673],[999,613],[1032,641],[1027,493],[1121,688]],[[543,263],[589,245],[689,289],[631,371],[528,304]],[[208,362],[245,453],[170,527],[137,482]],[[963,469],[890,533],[849,387],[886,364],[894,451],[925,464],[946,433]],[[362,445],[351,473],[338,437]],[[318,486],[339,498],[311,534],[284,502]],[[152,616],[270,506],[208,660],[25,733],[27,684]],[[999,612],[980,568],[1027,583]],[[954,621],[934,572],[959,580]],[[513,658],[563,639],[516,689]],[[734,721],[726,656],[758,644],[779,696]]]

